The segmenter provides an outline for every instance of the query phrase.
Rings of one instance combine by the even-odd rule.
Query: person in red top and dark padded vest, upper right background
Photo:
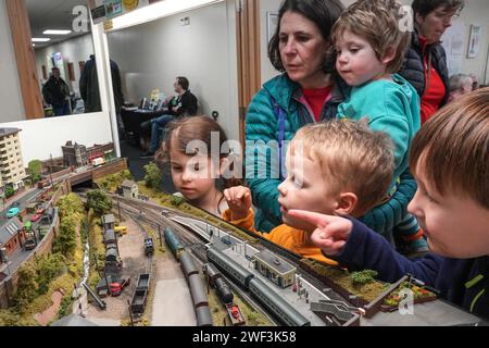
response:
[[[440,39],[464,4],[464,0],[414,0],[411,4],[414,32],[400,75],[421,97],[422,125],[448,102],[449,71]]]

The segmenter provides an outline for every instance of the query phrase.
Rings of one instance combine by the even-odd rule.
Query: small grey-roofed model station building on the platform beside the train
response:
[[[268,250],[253,256],[254,268],[273,283],[286,288],[293,284],[297,269]]]

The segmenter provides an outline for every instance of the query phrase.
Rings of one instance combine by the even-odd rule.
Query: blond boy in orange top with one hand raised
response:
[[[393,176],[393,145],[386,134],[369,129],[366,121],[333,120],[299,129],[287,152],[287,178],[278,186],[285,224],[268,234],[258,233],[251,191],[243,186],[224,191],[229,209],[223,219],[304,258],[337,264],[312,244],[315,227],[288,212],[305,209],[362,216],[387,198]]]

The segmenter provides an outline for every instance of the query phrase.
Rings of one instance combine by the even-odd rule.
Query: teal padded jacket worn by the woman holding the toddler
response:
[[[323,108],[321,120],[336,117],[338,105],[348,96],[349,87],[344,82],[337,80],[331,98]],[[283,223],[278,204],[278,185],[281,178],[277,170],[271,170],[271,163],[275,164],[275,167],[278,164],[278,151],[275,151],[272,160],[269,153],[268,157],[260,156],[264,153],[264,150],[253,146],[256,141],[264,144],[278,141],[279,122],[272,98],[286,115],[285,140],[291,140],[299,128],[315,122],[302,96],[301,87],[290,80],[286,74],[265,83],[249,105],[246,119],[246,175],[256,207],[255,226],[262,232],[269,232]],[[284,156],[285,153],[286,148],[284,148]],[[362,221],[372,229],[391,231],[404,215],[417,185],[409,172],[402,173],[400,177],[401,183],[392,199],[362,217]]]

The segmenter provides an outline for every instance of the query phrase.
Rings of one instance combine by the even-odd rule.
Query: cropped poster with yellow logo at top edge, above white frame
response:
[[[118,17],[162,0],[88,0],[93,24]]]

